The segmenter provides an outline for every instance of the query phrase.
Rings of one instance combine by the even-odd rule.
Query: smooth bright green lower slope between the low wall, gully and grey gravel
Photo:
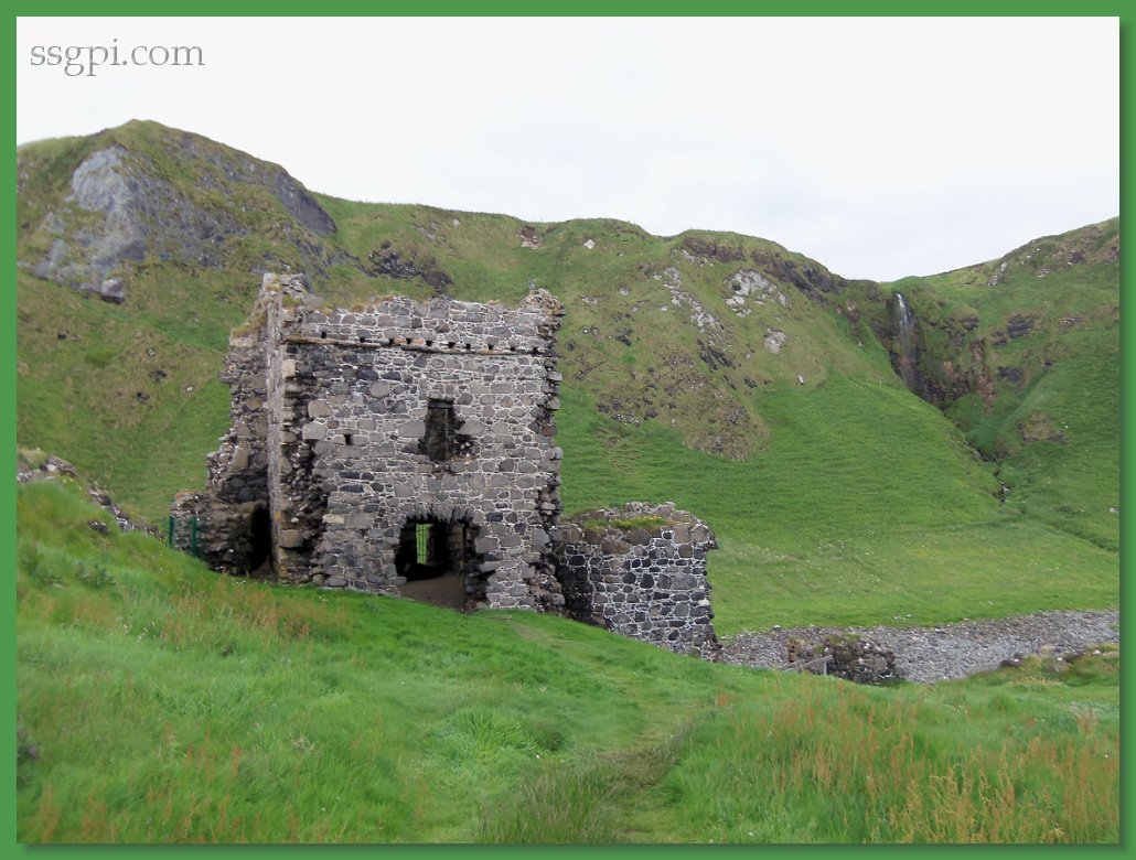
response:
[[[740,464],[691,451],[666,428],[627,428],[580,400],[567,393],[560,415],[566,506],[660,499],[710,523],[721,633],[1119,602],[1116,552],[1000,503],[961,434],[905,391],[849,379],[785,389],[763,401],[767,446]]]

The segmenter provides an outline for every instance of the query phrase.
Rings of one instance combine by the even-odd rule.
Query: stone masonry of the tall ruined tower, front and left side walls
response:
[[[261,506],[281,579],[396,594],[400,537],[428,521],[467,541],[469,606],[559,607],[560,303],[315,303],[302,277],[266,275],[233,341],[234,429],[210,462],[202,543],[232,558]],[[428,415],[445,418],[444,456]]]

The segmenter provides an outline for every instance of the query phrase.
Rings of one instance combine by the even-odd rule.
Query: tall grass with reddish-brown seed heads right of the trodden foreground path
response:
[[[1119,738],[1093,710],[1058,726],[1003,695],[887,696],[817,682],[730,703],[663,780],[715,842],[1116,842]],[[993,710],[993,713],[989,710]],[[1010,713],[1008,713],[1010,711]],[[1022,719],[1025,725],[1017,724]],[[1001,730],[994,730],[1004,724]]]

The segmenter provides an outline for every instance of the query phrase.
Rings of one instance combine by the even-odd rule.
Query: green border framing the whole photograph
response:
[[[257,0],[200,0],[199,2],[173,2],[165,3],[156,8],[150,2],[140,0],[106,0],[97,7],[90,2],[78,0],[16,0],[10,8],[3,12],[2,35],[7,50],[5,53],[10,58],[5,72],[7,77],[5,90],[9,93],[7,99],[9,108],[2,111],[2,124],[7,139],[15,143],[16,137],[16,64],[19,58],[16,56],[16,19],[20,16],[27,17],[112,17],[112,16],[140,16],[140,17],[234,17],[234,16],[264,16],[264,17],[337,17],[337,16],[688,16],[700,17],[716,16],[794,16],[794,17],[929,17],[929,16],[976,16],[976,17],[1061,17],[1061,16],[1105,16],[1119,18],[1120,28],[1120,51],[1121,51],[1121,152],[1126,152],[1131,147],[1131,103],[1134,92],[1134,81],[1131,62],[1128,57],[1130,42],[1130,26],[1136,11],[1136,3],[1121,2],[1120,0],[1080,0],[1069,2],[1055,0],[1042,2],[1028,2],[1027,0],[927,0],[926,2],[912,3],[900,2],[900,0],[870,0],[869,2],[840,2],[838,0],[703,0],[702,2],[683,2],[680,0],[655,0],[645,2],[644,0],[575,0],[574,2],[545,2],[538,3],[533,0],[484,0],[484,2],[460,2],[459,0],[385,0],[366,2],[364,0],[324,0],[324,2],[303,2],[302,0],[277,0],[276,2],[264,2]],[[960,61],[966,61],[964,56],[960,56]],[[91,130],[94,132],[97,130]],[[222,141],[224,142],[224,141]],[[1121,216],[1128,202],[1131,200],[1133,179],[1128,169],[1127,159],[1121,164]],[[0,336],[0,404],[3,406],[3,419],[0,420],[0,450],[8,450],[9,456],[16,450],[16,159],[8,161],[6,181],[3,182],[3,209],[2,226],[2,254],[3,272],[2,290],[0,290],[0,325],[2,336]],[[1077,225],[1070,225],[1075,227]],[[1121,218],[1121,244],[1127,244],[1130,231],[1127,229],[1127,220]],[[776,236],[771,236],[776,240]],[[1121,303],[1126,303],[1133,283],[1131,254],[1121,252]],[[1127,315],[1121,315],[1121,619],[1122,635],[1127,635],[1131,625],[1127,623],[1128,611],[1131,602],[1131,587],[1127,585],[1130,565],[1130,526],[1131,509],[1127,503],[1128,490],[1131,486],[1130,477],[1133,460],[1130,457],[1130,436],[1133,427],[1134,401],[1130,395],[1130,383],[1133,379],[1134,352],[1131,349],[1133,324]],[[11,461],[9,461],[11,462]],[[5,698],[6,705],[0,708],[0,737],[7,737],[8,752],[0,760],[0,821],[2,821],[2,834],[0,834],[0,852],[3,857],[55,857],[58,854],[78,853],[102,857],[118,857],[123,853],[131,857],[161,855],[168,857],[185,851],[194,851],[190,846],[67,846],[67,845],[44,845],[26,846],[16,843],[16,820],[15,820],[15,794],[16,794],[16,666],[15,666],[15,631],[16,631],[16,602],[15,602],[15,569],[16,569],[16,482],[9,474],[9,478],[0,482],[0,570],[5,573],[7,586],[7,600],[0,601],[3,617],[0,627],[6,632],[2,644],[2,660],[0,660],[0,681],[2,688],[9,693]],[[1070,853],[1099,858],[1102,855],[1127,855],[1130,840],[1131,821],[1126,820],[1125,810],[1136,810],[1131,794],[1131,754],[1128,749],[1127,737],[1129,736],[1128,724],[1133,715],[1133,673],[1127,661],[1122,662],[1122,687],[1121,687],[1121,715],[1124,718],[1125,742],[1122,743],[1122,769],[1121,769],[1121,844],[1120,846],[1070,846],[1068,849],[1051,849],[1059,851],[1062,857]],[[774,854],[777,857],[834,857],[845,853],[862,854],[866,851],[884,851],[888,855],[892,852],[925,853],[935,852],[942,855],[955,854],[963,850],[979,852],[996,852],[997,854],[1017,854],[1025,857],[1026,852],[1034,852],[1034,846],[992,846],[992,848],[962,848],[962,846],[640,846],[629,845],[620,848],[580,848],[580,846],[549,846],[543,849],[521,846],[417,846],[417,845],[394,845],[394,846],[209,846],[203,849],[210,857],[244,857],[250,852],[253,854],[274,854],[279,851],[293,852],[302,851],[307,854],[316,852],[331,855],[340,852],[349,852],[359,855],[367,853],[382,853],[384,857],[434,857],[451,855],[456,851],[461,851],[469,855],[481,855],[485,858],[499,857],[502,853],[511,857],[525,857],[534,851],[543,855],[563,857],[603,857],[607,854],[619,858],[658,858],[660,852],[665,857],[691,857],[710,855],[711,853],[729,853],[734,857]],[[1049,853],[1049,852],[1047,852]]]

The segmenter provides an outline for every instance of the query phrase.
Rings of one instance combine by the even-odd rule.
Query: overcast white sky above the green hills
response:
[[[204,65],[68,76],[50,45]],[[22,18],[17,142],[154,119],[337,197],[894,279],[1119,214],[1119,47],[1116,18]]]

